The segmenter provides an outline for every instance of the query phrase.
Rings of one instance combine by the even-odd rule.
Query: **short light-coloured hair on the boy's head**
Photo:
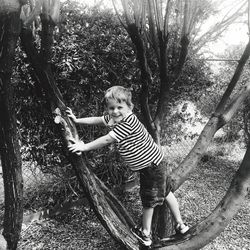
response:
[[[115,100],[119,103],[126,102],[131,110],[134,107],[134,104],[132,103],[131,90],[122,86],[113,86],[109,88],[105,92],[104,100],[106,104],[109,102],[109,100]]]

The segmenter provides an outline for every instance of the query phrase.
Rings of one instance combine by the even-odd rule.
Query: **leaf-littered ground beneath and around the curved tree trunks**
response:
[[[234,148],[229,154],[225,150],[225,145],[223,147],[221,151],[211,151],[176,192],[184,220],[190,226],[198,223],[216,207],[239,167],[244,151]],[[138,220],[140,213],[138,188],[127,193],[123,202],[134,219]],[[248,195],[224,232],[203,249],[249,250],[249,221],[250,196]],[[29,224],[22,231],[18,249],[118,250],[119,246],[110,238],[89,207],[82,206],[53,219]]]

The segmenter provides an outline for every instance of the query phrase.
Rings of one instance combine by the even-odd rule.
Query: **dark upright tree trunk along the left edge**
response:
[[[3,235],[16,249],[23,219],[23,179],[15,116],[13,58],[20,34],[19,2],[0,1],[0,154],[4,180]]]

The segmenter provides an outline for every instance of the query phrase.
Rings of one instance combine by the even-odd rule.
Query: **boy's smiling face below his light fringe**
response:
[[[126,102],[117,102],[113,99],[108,101],[107,109],[109,115],[116,123],[120,122],[124,117],[132,112],[132,109],[127,105]]]

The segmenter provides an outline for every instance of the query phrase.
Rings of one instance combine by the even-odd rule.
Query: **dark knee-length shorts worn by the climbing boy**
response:
[[[166,166],[152,163],[140,170],[140,195],[143,207],[162,205],[172,191],[171,178],[167,175]]]

